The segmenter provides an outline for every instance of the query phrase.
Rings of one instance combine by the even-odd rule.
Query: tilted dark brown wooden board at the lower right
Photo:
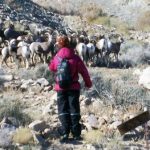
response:
[[[125,134],[128,131],[135,129],[136,127],[146,123],[150,120],[149,111],[145,111],[134,118],[120,124],[117,128],[121,135]]]

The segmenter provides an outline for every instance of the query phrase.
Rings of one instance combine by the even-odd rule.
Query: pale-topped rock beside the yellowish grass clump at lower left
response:
[[[34,122],[29,124],[29,128],[37,132],[44,131],[44,129],[46,129],[47,127],[48,125],[46,125],[45,121],[41,120],[35,120]]]

